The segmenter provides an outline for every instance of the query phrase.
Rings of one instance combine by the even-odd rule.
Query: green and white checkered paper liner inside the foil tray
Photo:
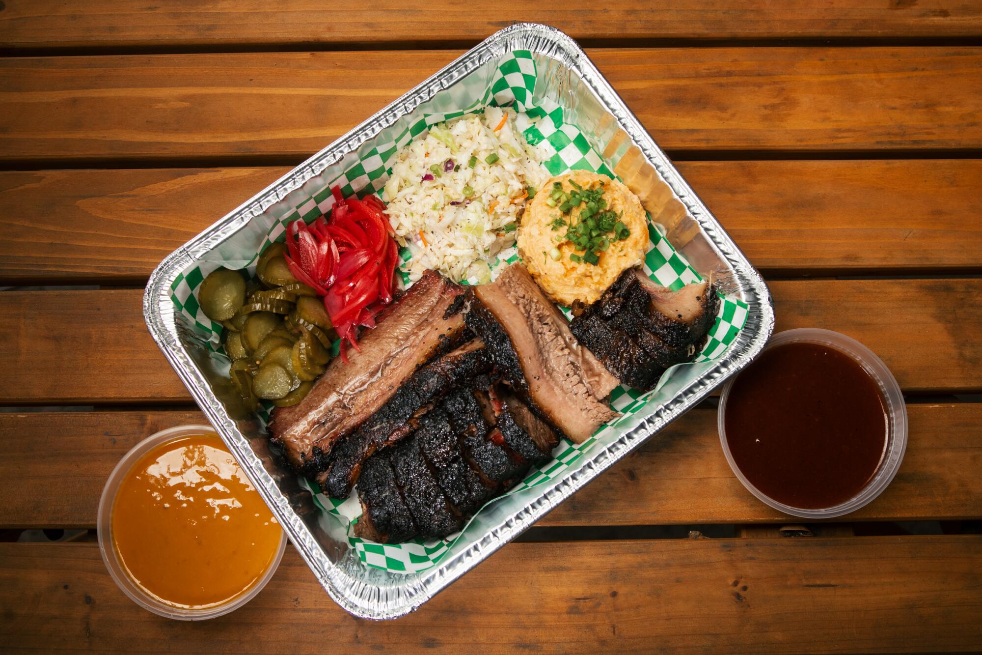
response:
[[[321,176],[316,178],[319,183],[316,189],[308,191],[308,185],[300,193],[301,198],[291,204],[292,209],[279,212],[276,216],[272,210],[267,215],[273,220],[268,228],[261,227],[260,221],[249,224],[246,235],[242,239],[232,237],[232,244],[223,244],[216,249],[215,259],[197,262],[193,267],[180,275],[172,286],[171,298],[180,313],[187,319],[187,327],[212,351],[213,358],[228,365],[228,358],[221,348],[219,337],[222,327],[211,322],[201,312],[195,296],[196,289],[209,272],[219,267],[245,268],[252,275],[258,255],[275,241],[284,239],[286,225],[293,220],[310,221],[326,213],[334,205],[331,187],[340,185],[342,193],[347,197],[357,194],[364,197],[369,193],[381,193],[391,172],[389,165],[393,155],[412,140],[425,136],[429,127],[448,119],[463,116],[470,112],[480,112],[487,105],[511,106],[518,112],[518,126],[525,138],[533,145],[541,145],[548,157],[543,162],[553,175],[566,173],[570,170],[589,170],[604,173],[614,177],[613,167],[593,149],[586,136],[570,122],[567,122],[565,111],[555,99],[545,93],[536,95],[536,63],[528,51],[508,53],[497,62],[497,67],[490,76],[490,84],[483,92],[471,92],[468,96],[452,98],[454,108],[447,108],[448,102],[434,100],[426,103],[415,114],[399,122],[393,129],[383,132],[373,144],[366,144],[346,159],[342,160],[343,168],[340,174],[333,177]],[[450,91],[453,94],[453,89]],[[477,96],[476,99],[473,99]],[[458,108],[463,107],[463,108]],[[430,109],[427,111],[427,109]],[[439,110],[437,110],[439,109]],[[384,198],[383,198],[384,200]],[[265,224],[265,221],[261,221]],[[685,284],[701,280],[699,274],[676,252],[672,244],[650,225],[648,230],[650,245],[644,257],[644,270],[649,277],[662,286],[679,289]],[[253,244],[251,248],[237,247],[243,244]],[[259,246],[256,248],[255,243]],[[228,252],[226,252],[228,251]],[[246,257],[230,257],[230,253]],[[409,259],[409,251],[403,251],[403,261]],[[493,263],[492,269],[518,261],[515,249],[503,252]],[[404,281],[408,278],[404,273]],[[705,347],[699,353],[695,364],[684,364],[673,367],[662,376],[659,386],[647,393],[641,393],[629,387],[618,387],[611,394],[611,406],[621,412],[621,416],[602,427],[597,433],[583,444],[573,444],[568,440],[553,451],[553,459],[548,463],[534,467],[525,479],[504,496],[489,501],[467,523],[464,529],[456,535],[444,540],[422,539],[406,544],[389,545],[376,544],[355,537],[354,526],[361,513],[356,494],[339,500],[332,499],[310,480],[301,480],[313,495],[314,503],[322,511],[325,520],[321,521],[324,528],[335,538],[347,539],[355,549],[359,560],[365,566],[384,568],[393,572],[412,573],[424,570],[437,564],[448,553],[464,548],[479,538],[491,522],[489,516],[498,506],[509,505],[508,508],[524,506],[528,500],[538,495],[547,485],[556,484],[573,468],[582,465],[586,458],[583,455],[597,444],[609,443],[618,435],[629,429],[647,412],[638,414],[649,402],[663,402],[672,397],[683,382],[684,375],[677,375],[681,369],[698,366],[723,354],[727,346],[733,342],[737,331],[743,326],[747,317],[747,306],[732,297],[722,297],[719,314],[714,326],[709,331]],[[670,388],[665,388],[666,386]],[[660,393],[660,391],[666,391]],[[259,411],[259,417],[268,421],[271,405],[266,403]],[[535,489],[535,492],[529,490]]]

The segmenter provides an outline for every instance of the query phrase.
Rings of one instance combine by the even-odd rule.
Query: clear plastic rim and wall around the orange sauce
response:
[[[287,533],[283,532],[283,535],[280,538],[280,547],[276,553],[276,557],[273,558],[269,568],[266,569],[266,572],[263,573],[262,577],[259,578],[255,584],[246,590],[245,593],[236,596],[228,603],[203,610],[188,610],[160,602],[156,598],[147,595],[147,593],[133,581],[130,575],[123,568],[123,565],[119,560],[119,555],[114,547],[111,520],[113,503],[116,501],[116,492],[119,490],[119,486],[122,483],[123,478],[130,472],[130,469],[136,463],[136,460],[146,453],[147,450],[180,437],[209,434],[215,434],[214,428],[210,426],[183,425],[177,428],[163,430],[155,435],[147,437],[133,447],[133,449],[127,452],[126,455],[120,459],[119,463],[116,464],[116,468],[113,469],[113,472],[109,474],[109,479],[106,480],[106,486],[102,490],[102,498],[99,500],[99,513],[96,519],[96,526],[98,527],[99,534],[99,551],[102,553],[102,561],[105,563],[106,568],[109,569],[109,574],[112,576],[113,580],[116,581],[119,588],[123,590],[123,593],[129,596],[130,599],[136,603],[136,605],[139,605],[143,609],[149,610],[154,614],[158,614],[161,617],[176,619],[178,621],[203,621],[205,619],[214,619],[215,617],[220,617],[224,614],[232,612],[233,610],[239,609],[247,602],[252,600],[252,598],[259,593],[264,586],[266,586],[269,579],[273,577],[273,573],[276,572],[277,567],[280,566],[280,560],[283,559],[283,553],[287,550]]]

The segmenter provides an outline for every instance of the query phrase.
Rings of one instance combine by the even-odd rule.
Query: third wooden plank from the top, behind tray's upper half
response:
[[[688,161],[765,273],[982,267],[982,160]],[[286,168],[0,173],[0,283],[143,282]],[[802,247],[805,244],[806,247]]]

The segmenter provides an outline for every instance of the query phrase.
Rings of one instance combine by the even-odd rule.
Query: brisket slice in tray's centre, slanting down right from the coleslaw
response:
[[[506,268],[495,282],[474,287],[474,296],[468,327],[537,413],[576,443],[617,416],[600,398],[620,381],[579,345],[524,268]]]

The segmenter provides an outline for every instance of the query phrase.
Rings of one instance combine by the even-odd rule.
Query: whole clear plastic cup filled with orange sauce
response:
[[[208,426],[171,428],[137,444],[106,481],[97,520],[102,560],[120,589],[144,609],[181,621],[245,605],[287,546],[286,533],[271,525],[272,513]],[[230,543],[232,535],[240,538]]]

